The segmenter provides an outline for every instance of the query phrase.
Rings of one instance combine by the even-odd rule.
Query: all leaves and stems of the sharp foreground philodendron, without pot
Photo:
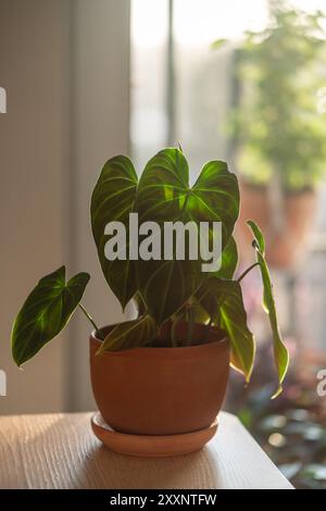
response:
[[[139,224],[155,222],[163,227],[166,222],[195,222],[209,225],[209,238],[214,232],[212,225],[222,225],[222,256],[220,269],[203,272],[201,257],[186,257],[180,260],[174,249],[172,257],[159,259],[137,259],[135,247],[129,242],[130,216]],[[34,357],[49,340],[55,337],[67,324],[79,307],[97,331],[103,351],[125,350],[136,347],[158,345],[162,332],[170,332],[163,346],[190,346],[205,342],[193,339],[193,324],[222,329],[229,338],[231,364],[243,373],[247,381],[252,372],[255,342],[247,325],[241,281],[254,266],[260,269],[264,287],[264,308],[269,316],[274,357],[279,387],[288,367],[288,352],[283,344],[278,325],[272,283],[264,257],[264,237],[260,228],[248,222],[253,234],[253,250],[256,261],[234,279],[238,253],[233,232],[239,213],[239,188],[235,174],[226,163],[206,163],[192,187],[189,185],[187,160],[180,149],[163,149],[146,165],[138,179],[131,161],[124,155],[109,160],[99,176],[91,197],[91,228],[104,277],[120,300],[123,309],[130,300],[137,304],[138,316],[116,325],[105,336],[95,324],[80,303],[89,275],[79,273],[65,279],[65,267],[39,281],[18,313],[12,331],[12,352],[17,365]],[[106,254],[108,240],[112,242],[113,232],[106,226],[112,222],[125,226],[125,235],[120,236],[120,248],[115,259]],[[150,226],[151,224],[146,224]],[[148,228],[147,234],[150,233]],[[145,238],[149,249],[153,238]],[[122,244],[122,245],[121,245]],[[112,245],[112,244],[111,244]],[[111,246],[112,248],[112,246]],[[177,324],[186,321],[188,333],[180,339]]]

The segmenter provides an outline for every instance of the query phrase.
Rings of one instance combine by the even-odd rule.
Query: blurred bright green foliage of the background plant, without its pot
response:
[[[285,0],[268,4],[267,27],[247,32],[236,50],[237,163],[250,183],[264,185],[278,173],[284,189],[300,190],[326,171],[326,117],[318,112],[323,90],[326,102],[325,17]]]

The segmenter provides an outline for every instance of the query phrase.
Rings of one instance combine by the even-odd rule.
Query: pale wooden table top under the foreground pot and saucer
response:
[[[204,449],[160,460],[111,452],[93,436],[90,416],[0,417],[0,488],[291,488],[228,413]]]

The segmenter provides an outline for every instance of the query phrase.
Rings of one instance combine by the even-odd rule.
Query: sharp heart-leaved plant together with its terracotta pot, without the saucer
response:
[[[180,149],[160,151],[139,180],[131,161],[118,155],[104,164],[92,192],[91,227],[104,277],[123,309],[135,300],[136,319],[98,327],[80,303],[89,275],[79,273],[66,282],[62,266],[39,281],[12,329],[13,358],[22,365],[63,329],[77,307],[82,309],[95,328],[90,371],[96,401],[104,421],[126,435],[203,431],[221,409],[229,363],[249,382],[255,345],[247,325],[241,281],[254,266],[261,271],[273,332],[279,381],[275,395],[287,372],[288,352],[278,331],[264,238],[253,222],[249,227],[256,262],[234,279],[236,175],[226,163],[211,161],[192,187],[188,177]],[[139,239],[134,244],[136,214]],[[202,253],[196,259],[187,251],[179,258],[177,244],[170,256],[164,252],[159,258],[163,230],[158,237],[155,225],[186,225],[189,220],[195,225],[205,223],[210,242],[214,242],[214,223],[222,225],[218,270],[203,271],[208,259]],[[109,258],[110,251],[116,257]]]

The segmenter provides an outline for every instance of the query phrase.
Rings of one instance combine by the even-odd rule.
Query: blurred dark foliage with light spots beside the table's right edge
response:
[[[231,374],[227,410],[236,413],[296,488],[326,489],[326,398],[316,391],[326,359],[314,350],[293,353],[283,395],[271,400],[269,346],[261,345],[251,385]]]

